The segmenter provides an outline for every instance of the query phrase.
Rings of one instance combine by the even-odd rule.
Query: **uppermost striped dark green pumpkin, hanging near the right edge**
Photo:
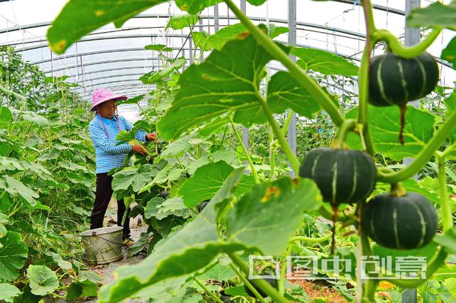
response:
[[[369,103],[405,106],[430,93],[438,80],[439,68],[429,53],[410,59],[394,53],[375,56],[369,71]]]

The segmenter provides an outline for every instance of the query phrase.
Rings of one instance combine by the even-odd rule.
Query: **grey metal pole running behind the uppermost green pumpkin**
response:
[[[405,0],[405,20],[407,20],[407,16],[410,14],[410,11],[413,9],[421,6],[421,0]],[[415,44],[420,43],[421,34],[419,27],[408,27],[405,24],[405,46],[413,46]],[[409,103],[411,106],[418,108],[419,103],[418,101],[412,101]],[[413,161],[413,158],[405,158],[404,164],[410,165]],[[416,303],[417,302],[417,289],[416,288],[409,288],[405,289],[402,294],[402,302],[403,303]]]

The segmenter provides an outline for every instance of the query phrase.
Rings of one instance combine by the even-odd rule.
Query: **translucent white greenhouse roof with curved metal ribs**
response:
[[[88,100],[93,90],[100,87],[130,97],[147,93],[149,88],[139,77],[161,65],[157,51],[145,50],[144,46],[148,44],[165,44],[172,48],[166,53],[168,57],[185,56],[189,63],[209,54],[195,51],[189,28],[166,28],[170,16],[185,14],[170,2],[143,11],[119,29],[113,24],[103,26],[74,43],[63,55],[56,55],[48,48],[46,32],[66,2],[55,0],[49,5],[49,1],[0,1],[0,45],[14,46],[27,61],[39,66],[48,76],[68,76],[68,81],[81,85],[76,91]],[[240,2],[238,0],[237,4],[242,4]],[[247,3],[244,7],[250,19],[257,23],[288,26],[289,7],[284,5],[286,2],[270,0],[262,6]],[[297,46],[320,48],[359,61],[366,32],[359,1],[296,2]],[[432,2],[422,1],[421,5]],[[378,26],[389,29],[403,40],[405,1],[379,0],[373,4]],[[218,4],[202,11],[193,30],[214,34],[214,31],[237,22],[225,4]],[[453,36],[454,31],[443,31],[441,38],[430,48],[432,55],[440,57],[442,46],[446,46]],[[289,34],[281,34],[276,40],[287,43]],[[383,52],[383,47],[378,47],[377,51]],[[447,66],[441,68],[441,79],[443,83],[451,84],[456,79],[455,71]],[[274,62],[269,68],[282,69]]]

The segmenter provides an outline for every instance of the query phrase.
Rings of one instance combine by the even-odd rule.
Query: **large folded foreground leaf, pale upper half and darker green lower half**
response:
[[[243,245],[219,240],[214,204],[231,197],[233,184],[239,183],[244,168],[232,172],[209,205],[181,230],[168,238],[138,265],[119,267],[112,283],[102,287],[100,303],[117,303],[148,285],[164,279],[190,274],[207,266],[220,252],[244,249]]]

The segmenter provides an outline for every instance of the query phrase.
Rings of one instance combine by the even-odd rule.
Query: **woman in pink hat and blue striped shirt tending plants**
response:
[[[131,151],[141,155],[146,150],[141,145],[130,145],[128,143],[116,144],[115,138],[121,130],[131,130],[133,125],[125,118],[116,114],[116,101],[125,101],[126,96],[116,96],[107,88],[100,88],[93,93],[93,106],[91,111],[96,111],[95,118],[90,121],[89,133],[95,147],[95,164],[97,175],[95,205],[90,216],[90,229],[103,227],[103,219],[108,209],[111,196],[113,195],[113,176],[108,172],[113,168],[123,165],[125,157]],[[155,134],[145,133],[138,130],[136,140],[152,141]],[[117,224],[122,226],[122,219],[125,213],[125,203],[118,200]],[[130,220],[127,216],[123,226],[123,240],[130,240]]]

